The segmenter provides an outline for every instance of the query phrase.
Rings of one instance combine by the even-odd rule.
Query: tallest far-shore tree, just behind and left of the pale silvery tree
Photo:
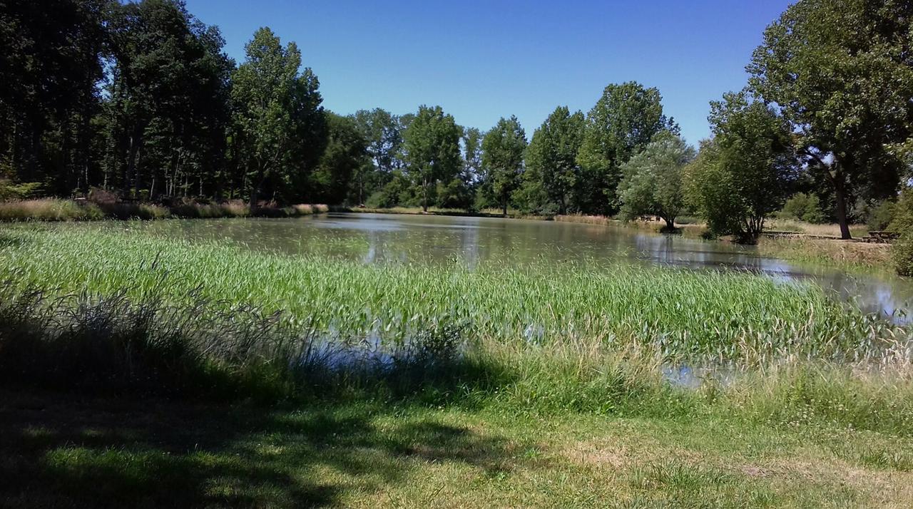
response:
[[[585,212],[618,210],[621,165],[642,149],[660,130],[678,132],[673,119],[663,113],[657,88],[629,81],[609,85],[586,116],[577,162],[585,172],[581,192]]]

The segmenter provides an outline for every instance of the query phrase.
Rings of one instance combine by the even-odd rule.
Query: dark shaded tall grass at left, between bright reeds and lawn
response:
[[[321,338],[255,306],[0,290],[0,384],[205,400],[440,401],[507,381],[469,351],[466,328],[433,325],[396,345]]]

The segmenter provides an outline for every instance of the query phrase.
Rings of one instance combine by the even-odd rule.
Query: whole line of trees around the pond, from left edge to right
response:
[[[797,192],[864,219],[906,186],[913,47],[906,2],[802,0],[767,28],[744,90],[680,138],[656,88],[613,84],[531,136],[440,107],[336,115],[299,48],[268,28],[244,61],[177,0],[0,4],[6,196],[91,188],[167,201],[396,205],[507,213],[683,213],[751,242]],[[850,29],[852,28],[852,29]]]

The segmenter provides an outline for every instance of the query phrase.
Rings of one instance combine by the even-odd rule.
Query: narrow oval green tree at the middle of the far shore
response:
[[[508,214],[511,193],[519,187],[526,145],[526,132],[514,116],[499,119],[482,140],[482,167],[488,188],[504,215]]]

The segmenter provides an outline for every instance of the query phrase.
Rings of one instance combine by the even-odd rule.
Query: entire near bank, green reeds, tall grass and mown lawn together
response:
[[[913,501],[909,331],[813,286],[84,226],[0,228],[0,504]]]

